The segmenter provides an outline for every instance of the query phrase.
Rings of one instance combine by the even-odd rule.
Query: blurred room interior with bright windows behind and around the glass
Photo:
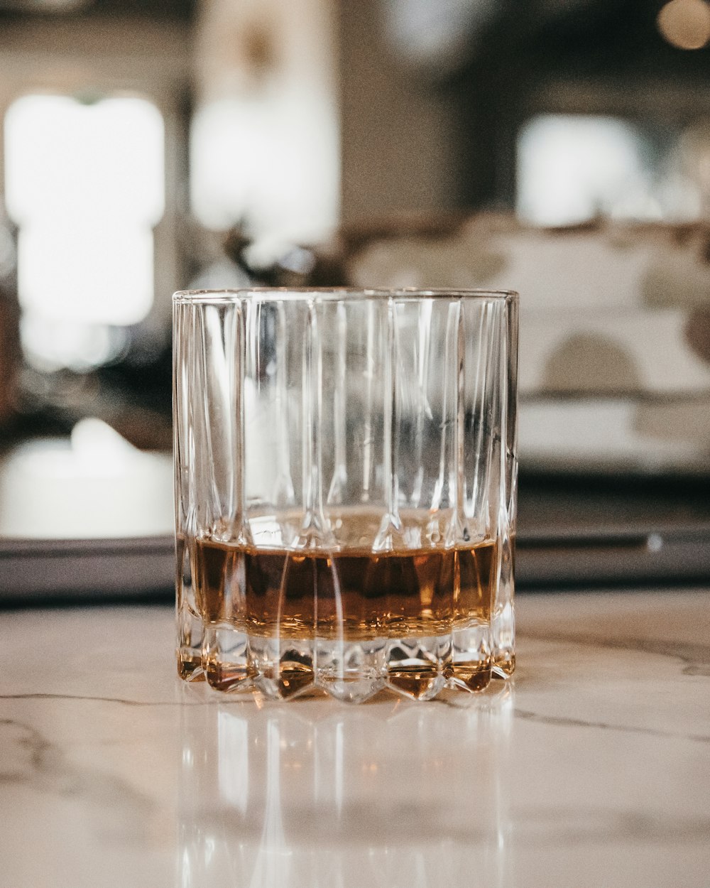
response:
[[[170,297],[250,282],[518,289],[521,538],[710,527],[708,41],[706,0],[0,0],[0,535],[170,534]]]

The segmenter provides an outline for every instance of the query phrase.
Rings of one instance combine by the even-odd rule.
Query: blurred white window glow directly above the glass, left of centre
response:
[[[301,242],[338,216],[337,127],[303,91],[209,102],[193,118],[190,195],[203,226],[246,222],[258,236]]]

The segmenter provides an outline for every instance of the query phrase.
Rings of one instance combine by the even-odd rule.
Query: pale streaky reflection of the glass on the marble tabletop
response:
[[[502,685],[466,707],[184,706],[177,885],[507,884]]]

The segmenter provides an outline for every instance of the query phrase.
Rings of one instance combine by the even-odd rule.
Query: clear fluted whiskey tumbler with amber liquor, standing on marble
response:
[[[178,674],[348,702],[507,678],[517,294],[173,306]]]

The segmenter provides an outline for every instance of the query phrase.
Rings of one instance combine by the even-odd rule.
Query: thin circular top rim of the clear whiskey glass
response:
[[[268,298],[269,301],[286,300],[305,302],[342,301],[348,298],[367,300],[398,299],[418,301],[420,299],[449,298],[501,301],[517,301],[519,295],[514,289],[483,289],[459,287],[236,287],[226,289],[178,289],[173,293],[175,305],[224,305],[241,299]]]

